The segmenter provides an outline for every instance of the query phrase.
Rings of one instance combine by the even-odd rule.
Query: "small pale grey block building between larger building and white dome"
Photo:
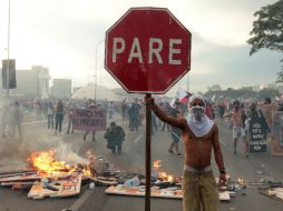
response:
[[[71,79],[53,79],[51,94],[57,98],[71,98]]]

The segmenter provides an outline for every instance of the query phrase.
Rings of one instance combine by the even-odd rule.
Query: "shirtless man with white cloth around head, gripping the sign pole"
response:
[[[223,154],[218,142],[218,128],[205,115],[205,101],[201,96],[189,98],[191,114],[184,117],[167,115],[154,99],[146,98],[155,114],[168,124],[179,128],[185,145],[183,172],[183,210],[206,211],[218,210],[218,193],[211,167],[212,150],[219,169],[219,183],[226,182]]]

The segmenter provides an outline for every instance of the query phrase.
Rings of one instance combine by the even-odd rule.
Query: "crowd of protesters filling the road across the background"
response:
[[[143,99],[133,98],[125,99],[120,102],[113,101],[98,101],[94,99],[88,100],[60,100],[60,99],[12,99],[10,101],[2,101],[1,109],[1,133],[2,137],[14,135],[16,129],[18,135],[21,139],[21,123],[23,121],[23,114],[27,112],[35,112],[36,120],[47,120],[47,128],[53,130],[55,135],[62,132],[64,119],[67,121],[66,133],[74,133],[72,128],[72,109],[75,108],[106,108],[109,122],[117,123],[117,115],[121,117],[121,124],[127,125],[129,131],[137,132],[143,127],[145,119],[145,105]],[[188,114],[188,104],[175,101],[156,102],[158,107],[168,115],[172,117],[186,117]],[[233,153],[237,154],[238,140],[242,140],[243,153],[248,157],[248,133],[250,122],[254,118],[262,118],[265,125],[266,133],[272,131],[272,111],[283,110],[281,103],[272,102],[271,98],[266,98],[264,102],[240,102],[238,100],[227,101],[218,100],[212,102],[205,100],[205,114],[214,120],[217,119],[217,123],[226,124],[228,129],[232,129],[233,137]],[[182,157],[178,149],[178,142],[180,140],[180,131],[176,127],[170,127],[166,122],[162,121],[152,112],[152,134],[156,132],[170,132],[172,143],[168,147],[168,153],[177,154]],[[87,139],[88,134],[91,134],[91,140],[95,141],[96,131],[88,131],[84,133],[82,140]],[[109,138],[106,138],[107,140]],[[120,148],[118,148],[120,151]]]

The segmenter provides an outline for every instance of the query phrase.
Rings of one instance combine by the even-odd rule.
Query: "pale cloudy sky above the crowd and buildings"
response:
[[[8,2],[0,1],[0,59],[8,57]],[[246,40],[255,20],[253,13],[274,2],[10,0],[9,56],[16,59],[17,70],[42,66],[51,79],[71,79],[72,87],[97,81],[119,88],[104,69],[105,32],[131,7],[168,8],[192,33],[191,71],[172,90],[264,86],[274,83],[282,54],[261,50],[250,57]]]

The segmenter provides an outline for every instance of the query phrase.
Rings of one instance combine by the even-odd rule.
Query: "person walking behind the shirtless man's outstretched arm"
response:
[[[175,101],[174,107],[175,108],[170,108],[168,110],[168,115],[172,115],[174,118],[182,117],[180,102],[178,100]],[[170,143],[170,147],[168,149],[168,152],[170,154],[174,154],[173,149],[175,149],[176,154],[178,157],[182,157],[182,153],[179,152],[179,148],[178,148],[178,142],[180,140],[180,130],[176,127],[172,127],[170,134],[172,134],[172,143]]]

